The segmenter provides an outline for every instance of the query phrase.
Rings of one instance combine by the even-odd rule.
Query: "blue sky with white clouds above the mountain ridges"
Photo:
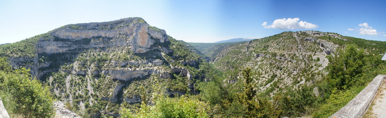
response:
[[[301,30],[386,41],[385,5],[386,0],[2,0],[0,44],[67,24],[127,17],[142,17],[186,42]]]

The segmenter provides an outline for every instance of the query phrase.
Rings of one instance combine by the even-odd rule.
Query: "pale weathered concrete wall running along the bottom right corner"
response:
[[[329,118],[361,118],[385,78],[386,75],[376,76],[354,99]]]

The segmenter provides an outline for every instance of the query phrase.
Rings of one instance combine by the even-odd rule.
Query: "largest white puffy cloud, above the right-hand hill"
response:
[[[305,21],[300,21],[299,18],[283,18],[283,19],[276,19],[273,21],[272,25],[267,25],[267,22],[263,22],[261,25],[264,26],[264,28],[274,28],[274,29],[313,29],[318,28],[318,25],[308,23]]]

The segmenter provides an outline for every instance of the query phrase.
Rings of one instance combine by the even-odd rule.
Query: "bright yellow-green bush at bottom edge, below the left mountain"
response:
[[[156,92],[153,93],[152,103],[154,105],[148,106],[146,102],[142,101],[141,108],[130,114],[130,109],[122,108],[120,114],[124,118],[208,118],[207,104],[181,96],[177,98],[169,98],[164,96],[159,83],[156,80],[154,88]]]

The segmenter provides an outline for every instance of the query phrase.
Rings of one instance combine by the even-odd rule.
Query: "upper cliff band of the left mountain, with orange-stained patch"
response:
[[[37,53],[66,53],[88,48],[130,46],[135,53],[152,50],[155,42],[168,42],[164,30],[149,26],[142,18],[124,18],[111,22],[66,25],[41,38]]]

